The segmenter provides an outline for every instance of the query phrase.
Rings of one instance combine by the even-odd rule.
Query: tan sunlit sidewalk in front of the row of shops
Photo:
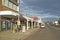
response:
[[[10,30],[0,32],[0,40],[22,40],[31,35],[32,33],[36,32],[38,29],[39,28],[29,29],[25,33],[21,31],[17,33],[12,33]]]

